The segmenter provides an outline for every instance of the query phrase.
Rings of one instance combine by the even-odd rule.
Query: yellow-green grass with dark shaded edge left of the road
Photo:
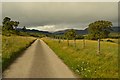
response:
[[[4,71],[34,41],[33,37],[2,36],[2,70]]]

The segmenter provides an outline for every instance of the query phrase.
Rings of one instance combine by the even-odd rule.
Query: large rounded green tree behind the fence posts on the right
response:
[[[106,38],[110,33],[112,27],[112,22],[110,21],[95,21],[94,23],[90,23],[88,27],[88,32],[92,39]]]

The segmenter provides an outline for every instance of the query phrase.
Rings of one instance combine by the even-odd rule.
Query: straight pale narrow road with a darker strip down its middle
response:
[[[42,40],[36,40],[3,73],[3,78],[76,78]]]

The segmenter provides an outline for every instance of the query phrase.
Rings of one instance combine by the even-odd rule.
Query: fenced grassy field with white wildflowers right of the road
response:
[[[97,41],[77,40],[67,46],[67,41],[43,38],[49,47],[81,78],[118,78],[118,44],[101,41],[101,52],[97,55]]]

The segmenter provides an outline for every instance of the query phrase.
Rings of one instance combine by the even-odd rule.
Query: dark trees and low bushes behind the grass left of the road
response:
[[[33,36],[33,37],[43,37],[45,36],[42,33],[29,33],[24,26],[21,31],[17,30],[18,25],[20,24],[19,21],[13,21],[9,17],[5,17],[2,22],[2,35],[11,36],[11,35],[18,35],[18,36]]]

